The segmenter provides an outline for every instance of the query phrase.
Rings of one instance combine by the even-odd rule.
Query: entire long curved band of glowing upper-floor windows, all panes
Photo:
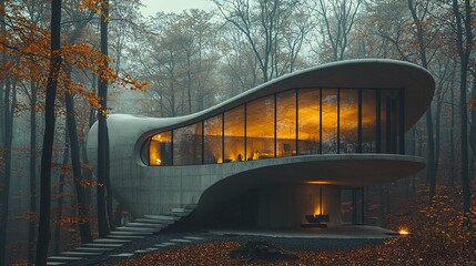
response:
[[[404,154],[404,93],[295,89],[260,98],[142,145],[154,166],[234,163],[308,154]]]

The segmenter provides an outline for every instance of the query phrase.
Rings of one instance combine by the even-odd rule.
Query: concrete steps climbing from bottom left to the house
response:
[[[172,208],[160,215],[144,215],[121,227],[117,227],[105,238],[94,239],[92,243],[82,244],[70,252],[61,253],[57,256],[48,257],[47,265],[68,265],[79,263],[81,259],[88,259],[94,256],[111,253],[125,244],[140,241],[146,236],[158,234],[162,229],[173,225],[182,217],[190,215],[196,205],[190,204],[182,207]]]

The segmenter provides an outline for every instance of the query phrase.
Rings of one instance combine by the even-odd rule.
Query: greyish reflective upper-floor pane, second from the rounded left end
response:
[[[173,130],[173,165],[202,164],[202,122]]]

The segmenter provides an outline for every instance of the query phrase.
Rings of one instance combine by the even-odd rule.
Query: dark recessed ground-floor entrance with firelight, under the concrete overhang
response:
[[[313,227],[310,215],[327,217],[327,226],[363,225],[364,213],[363,188],[285,183],[222,201],[198,218],[214,228],[297,228]]]

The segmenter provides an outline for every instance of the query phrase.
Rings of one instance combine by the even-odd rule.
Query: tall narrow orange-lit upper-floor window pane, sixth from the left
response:
[[[276,156],[296,154],[296,93],[288,91],[276,96]]]

